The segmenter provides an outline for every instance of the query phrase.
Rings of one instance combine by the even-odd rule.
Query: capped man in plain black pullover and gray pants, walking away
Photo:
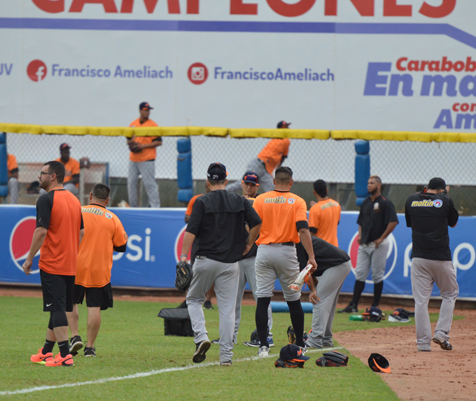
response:
[[[227,192],[228,173],[221,163],[210,164],[207,185],[210,192],[198,197],[183,237],[181,260],[186,261],[190,246],[197,241],[193,279],[187,305],[195,333],[193,362],[205,360],[210,348],[202,304],[214,286],[220,317],[220,364],[232,365],[235,304],[238,290],[238,260],[250,251],[260,232],[261,219],[248,200]],[[249,235],[245,222],[250,229]]]

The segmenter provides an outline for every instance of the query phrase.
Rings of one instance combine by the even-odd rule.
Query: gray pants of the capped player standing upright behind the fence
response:
[[[139,190],[139,174],[146,188],[148,202],[151,207],[160,207],[159,187],[155,181],[155,161],[132,162],[129,160],[129,176],[127,177],[127,194],[132,207],[139,206],[137,192]]]

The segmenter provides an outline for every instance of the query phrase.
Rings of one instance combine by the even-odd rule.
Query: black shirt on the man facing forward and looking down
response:
[[[372,202],[372,197],[366,197],[360,206],[357,224],[362,227],[361,244],[370,244],[384,234],[388,223],[398,223],[397,213],[393,203],[383,196]]]

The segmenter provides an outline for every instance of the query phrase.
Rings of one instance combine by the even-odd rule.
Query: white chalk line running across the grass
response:
[[[307,353],[312,352],[326,352],[332,351],[333,349],[342,349],[342,346],[335,346],[332,348],[321,348],[321,349],[309,349]],[[269,356],[251,356],[249,358],[240,358],[233,360],[233,363],[239,362],[246,362],[250,360],[258,360],[264,358],[277,358],[279,357],[278,353],[269,354]],[[0,391],[0,395],[14,395],[14,394],[25,394],[25,393],[34,393],[36,391],[43,391],[43,390],[54,390],[55,388],[65,388],[65,387],[77,387],[77,386],[86,386],[87,384],[102,384],[108,383],[109,381],[120,381],[120,380],[127,380],[127,379],[137,379],[139,377],[148,377],[154,376],[155,374],[167,373],[167,372],[179,372],[181,370],[189,370],[189,369],[197,369],[200,367],[209,367],[209,366],[216,366],[220,365],[219,362],[209,362],[209,363],[200,363],[195,365],[187,365],[182,367],[169,367],[167,369],[160,369],[160,370],[150,370],[149,372],[142,372],[142,373],[134,373],[134,374],[127,374],[127,376],[117,376],[117,377],[106,377],[104,379],[97,379],[97,380],[88,380],[88,381],[80,381],[78,383],[66,383],[66,384],[59,384],[58,386],[38,386],[38,387],[31,387],[31,388],[22,388],[20,390],[14,391]],[[66,368],[63,368],[66,369]]]

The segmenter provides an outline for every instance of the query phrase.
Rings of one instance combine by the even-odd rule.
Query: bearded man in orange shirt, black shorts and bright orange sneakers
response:
[[[38,266],[43,311],[50,312],[50,321],[45,345],[30,360],[46,366],[74,366],[69,353],[66,312],[73,310],[78,248],[84,234],[81,205],[77,197],[63,188],[64,165],[61,162],[45,163],[38,179],[47,193],[36,202],[36,229],[23,271],[31,274],[33,258],[41,248]],[[53,358],[55,342],[59,354]]]

